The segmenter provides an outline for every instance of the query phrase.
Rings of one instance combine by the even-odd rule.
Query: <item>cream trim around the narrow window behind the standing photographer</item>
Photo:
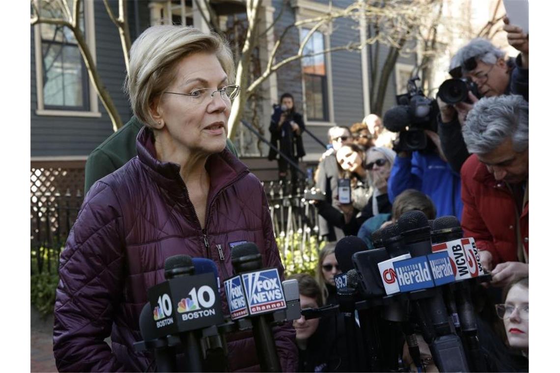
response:
[[[297,4],[301,4],[302,2],[298,1]],[[297,8],[297,15],[296,19],[298,21],[304,20],[306,18],[317,17],[320,16],[321,13],[317,10],[317,8],[310,10],[309,8]],[[334,8],[333,8],[334,10]],[[309,26],[307,26],[309,27]],[[301,30],[307,27],[298,27],[298,33],[300,35],[301,40]],[[325,41],[325,49],[330,48],[330,34],[332,33],[332,25],[328,25],[325,27],[319,27],[317,30],[323,34],[324,41]],[[325,125],[330,125],[334,121],[334,100],[333,100],[333,72],[331,69],[332,62],[330,58],[330,53],[325,53],[325,62],[326,62],[326,94],[329,96],[328,103],[329,103],[329,118],[326,121],[314,121],[316,123],[324,123]],[[302,101],[304,106],[304,120],[307,123],[307,103],[305,102],[305,82],[304,82],[304,60],[300,59],[300,67],[301,67],[301,92],[302,92]]]

